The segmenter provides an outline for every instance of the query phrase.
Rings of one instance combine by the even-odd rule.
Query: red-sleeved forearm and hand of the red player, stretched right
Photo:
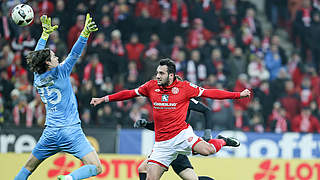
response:
[[[230,92],[220,89],[204,89],[201,97],[211,98],[211,99],[239,99],[250,97],[251,92],[245,89],[241,92]]]

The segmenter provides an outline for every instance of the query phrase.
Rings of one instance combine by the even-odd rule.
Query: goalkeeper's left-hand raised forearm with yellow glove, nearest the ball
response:
[[[58,25],[52,26],[51,25],[51,18],[47,17],[47,15],[42,15],[40,17],[41,26],[42,26],[42,34],[41,38],[39,39],[35,51],[44,49],[49,38],[49,35],[58,29]]]

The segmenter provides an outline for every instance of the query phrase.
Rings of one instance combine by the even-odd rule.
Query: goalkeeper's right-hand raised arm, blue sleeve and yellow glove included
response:
[[[83,27],[83,30],[77,40],[77,42],[73,45],[71,52],[69,53],[67,59],[62,65],[62,71],[67,72],[67,74],[70,74],[72,71],[73,66],[75,65],[76,61],[81,56],[81,53],[87,44],[89,35],[97,31],[98,27],[96,23],[92,20],[92,17],[90,17],[90,14],[88,13],[86,16],[86,21]]]

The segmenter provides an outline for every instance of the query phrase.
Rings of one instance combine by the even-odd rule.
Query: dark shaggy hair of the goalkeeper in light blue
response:
[[[31,51],[27,55],[27,64],[31,72],[43,74],[48,70],[47,61],[51,61],[50,49]]]

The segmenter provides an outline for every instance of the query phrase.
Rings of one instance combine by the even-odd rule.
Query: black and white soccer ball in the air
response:
[[[33,10],[27,4],[18,4],[12,9],[11,18],[19,26],[29,25],[33,17]]]

